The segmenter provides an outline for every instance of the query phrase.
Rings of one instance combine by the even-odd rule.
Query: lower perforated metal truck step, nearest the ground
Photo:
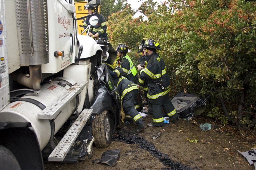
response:
[[[90,118],[93,109],[84,109],[48,157],[49,161],[62,162],[82,128]]]

